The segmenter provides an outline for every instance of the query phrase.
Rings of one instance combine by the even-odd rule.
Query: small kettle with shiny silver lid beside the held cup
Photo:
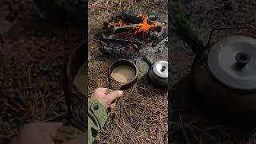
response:
[[[158,61],[150,66],[148,71],[150,83],[160,89],[167,90],[168,88],[168,62]]]

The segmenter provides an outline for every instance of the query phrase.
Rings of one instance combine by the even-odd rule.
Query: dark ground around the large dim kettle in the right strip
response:
[[[174,1],[171,11],[177,9],[186,14],[198,36],[206,43],[214,27],[256,26],[256,2],[253,0]],[[214,33],[213,42],[231,34],[255,33],[245,30],[227,30]],[[190,70],[194,54],[182,41],[172,34],[169,41],[170,66],[170,141],[174,143],[255,143],[255,126],[238,127],[213,122],[194,105],[190,93]]]

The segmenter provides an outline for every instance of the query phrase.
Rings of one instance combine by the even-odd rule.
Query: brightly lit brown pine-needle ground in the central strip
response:
[[[114,62],[114,58],[98,51],[98,38],[108,11],[166,14],[166,6],[166,1],[89,1],[90,93],[99,86],[108,86],[107,70]],[[137,84],[124,91],[114,112],[109,113],[97,143],[167,143],[167,92],[145,85],[146,81],[140,78]]]

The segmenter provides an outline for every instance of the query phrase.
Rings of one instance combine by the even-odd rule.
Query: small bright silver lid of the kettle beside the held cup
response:
[[[168,78],[168,62],[158,61],[154,63],[153,66],[154,74],[158,75],[160,78]]]

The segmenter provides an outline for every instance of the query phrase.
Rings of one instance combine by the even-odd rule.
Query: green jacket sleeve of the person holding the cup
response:
[[[94,142],[106,122],[105,107],[96,99],[88,99],[88,144]]]

